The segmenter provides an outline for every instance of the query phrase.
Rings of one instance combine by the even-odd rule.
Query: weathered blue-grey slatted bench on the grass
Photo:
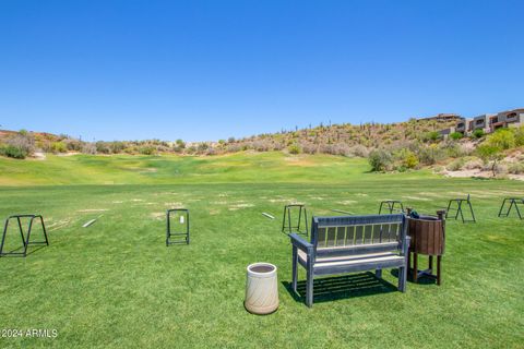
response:
[[[306,268],[306,304],[313,305],[313,278],[365,270],[398,268],[398,290],[406,289],[409,237],[403,214],[313,217],[311,241],[291,233],[293,289],[298,264]]]

